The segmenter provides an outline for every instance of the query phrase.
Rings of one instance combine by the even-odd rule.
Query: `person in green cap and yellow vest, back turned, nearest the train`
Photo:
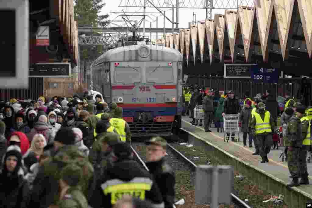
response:
[[[131,142],[130,127],[129,124],[122,119],[122,112],[122,108],[117,107],[114,112],[114,118],[110,119],[110,124],[116,128],[121,141]]]

